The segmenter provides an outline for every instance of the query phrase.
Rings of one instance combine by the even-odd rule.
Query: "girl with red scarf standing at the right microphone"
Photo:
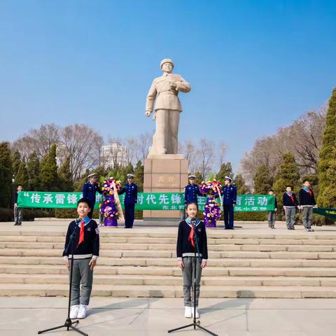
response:
[[[184,295],[184,316],[191,318],[194,315],[194,294],[193,301],[191,300],[190,290],[193,283],[193,270],[196,262],[196,307],[198,307],[198,298],[200,297],[200,282],[202,275],[202,268],[207,266],[208,259],[208,247],[207,247],[207,232],[205,225],[197,216],[198,206],[195,202],[187,204],[186,212],[188,218],[183,220],[179,224],[179,233],[177,235],[176,254],[179,262],[179,267],[182,269],[183,274],[183,295]],[[197,245],[199,247],[200,254],[196,253],[197,248],[194,241],[194,227],[197,230]],[[197,252],[197,249],[196,249]],[[193,288],[194,293],[194,288]],[[200,314],[196,308],[195,317],[200,318]]]

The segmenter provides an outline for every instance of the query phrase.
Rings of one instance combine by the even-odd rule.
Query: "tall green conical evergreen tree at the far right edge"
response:
[[[320,207],[336,207],[336,87],[332,90],[318,162]]]

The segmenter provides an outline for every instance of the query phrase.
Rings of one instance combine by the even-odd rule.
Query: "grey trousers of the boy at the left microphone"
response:
[[[73,274],[71,283],[71,306],[90,302],[92,290],[93,271],[90,269],[89,259],[73,260]],[[69,260],[71,262],[71,260]],[[69,274],[70,276],[70,274]],[[80,288],[80,284],[82,285]]]

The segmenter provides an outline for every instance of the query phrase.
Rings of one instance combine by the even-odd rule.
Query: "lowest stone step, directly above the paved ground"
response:
[[[0,284],[1,296],[67,296],[66,284]],[[112,297],[183,297],[182,286],[153,285],[99,285],[94,284],[93,296]],[[200,297],[336,297],[335,287],[297,286],[283,288],[279,286],[204,286]]]

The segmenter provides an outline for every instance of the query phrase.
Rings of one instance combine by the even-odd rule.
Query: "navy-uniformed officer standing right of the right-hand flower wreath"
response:
[[[234,207],[237,203],[237,189],[231,185],[232,179],[225,176],[225,185],[222,188],[224,223],[226,230],[234,230],[233,220],[235,216]]]

